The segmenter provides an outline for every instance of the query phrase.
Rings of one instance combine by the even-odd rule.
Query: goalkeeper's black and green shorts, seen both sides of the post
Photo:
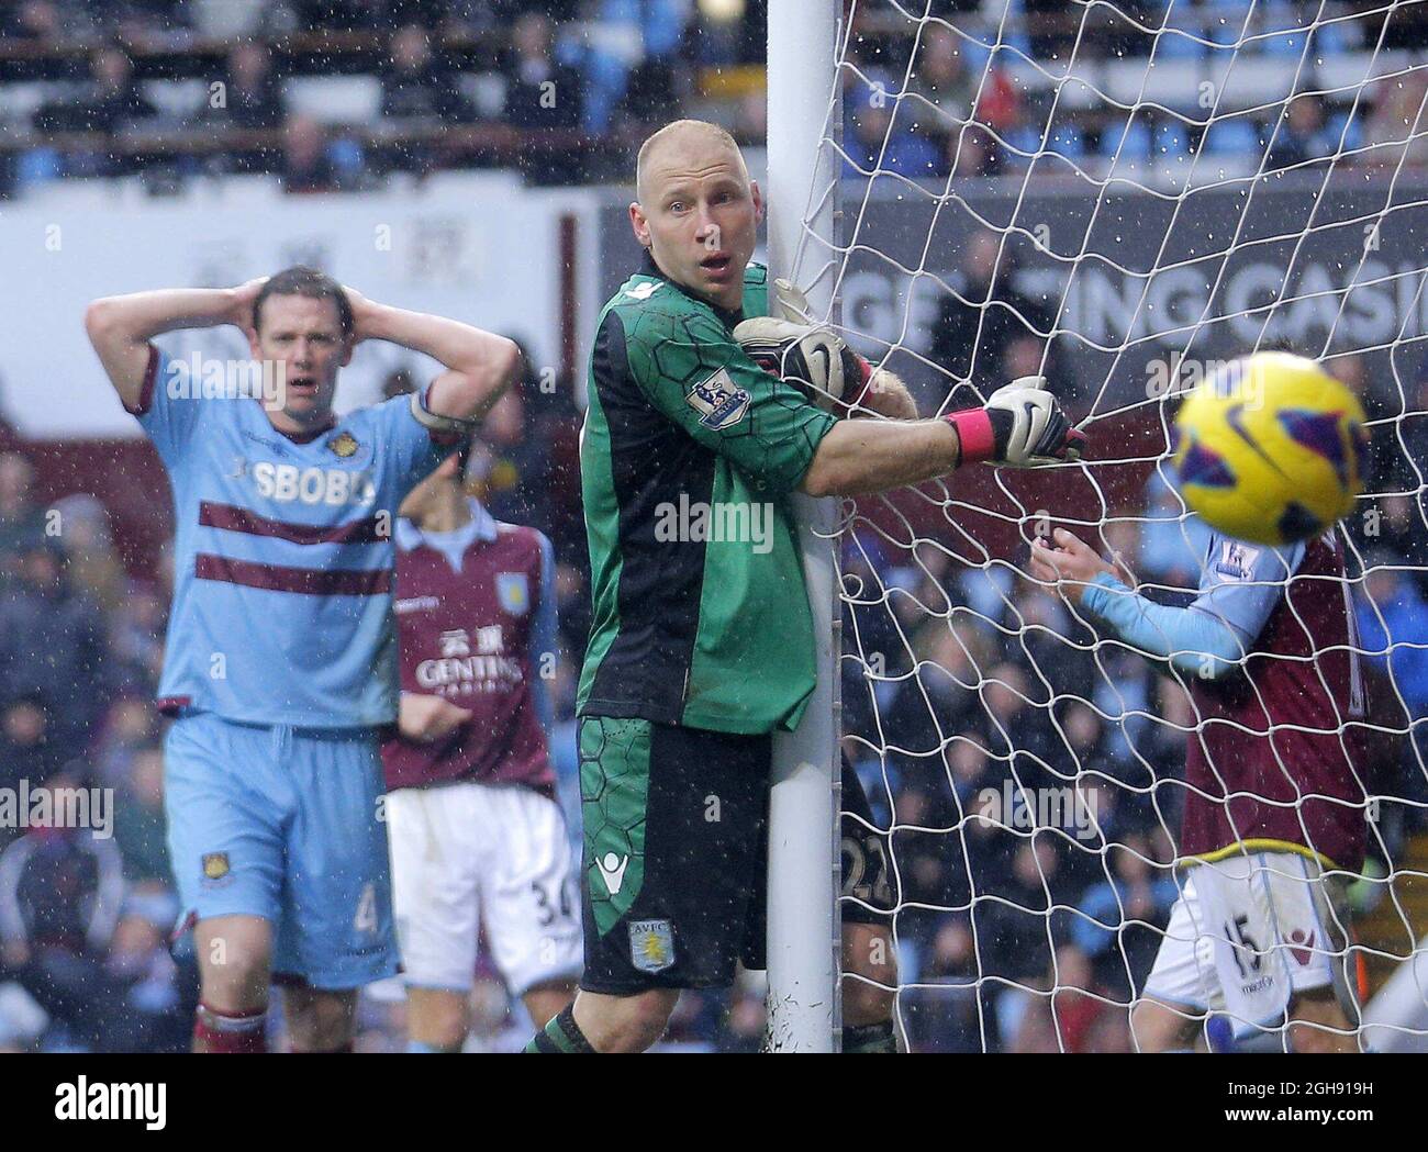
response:
[[[727,988],[764,968],[773,738],[583,717],[585,972],[607,995]],[[885,837],[843,771],[843,921],[891,909]]]

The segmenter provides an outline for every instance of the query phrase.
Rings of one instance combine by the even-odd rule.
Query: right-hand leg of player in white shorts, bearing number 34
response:
[[[581,971],[580,886],[565,817],[517,785],[471,785],[483,829],[481,919],[506,986],[537,1028],[575,999]]]

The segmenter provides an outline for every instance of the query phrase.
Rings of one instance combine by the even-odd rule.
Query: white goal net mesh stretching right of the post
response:
[[[805,228],[797,278],[831,286],[831,317],[924,413],[1044,374],[1094,437],[1080,465],[845,505],[843,744],[885,834],[914,1049],[1308,1046],[1250,1016],[1261,976],[1304,1004],[1325,995],[1321,971],[1374,999],[1318,1039],[1428,1042],[1428,969],[1411,959],[1428,932],[1422,7],[847,6],[823,141],[841,211]],[[813,188],[810,220],[830,191]],[[1368,859],[1314,889],[1292,854],[1174,866],[1188,794],[1211,795],[1187,782],[1207,724],[1194,677],[1027,578],[1028,541],[1065,527],[1118,554],[1142,595],[1188,604],[1207,555],[1168,468],[1177,398],[1262,348],[1322,360],[1372,435],[1345,571],[1328,577],[1369,701],[1332,728],[1358,789],[1334,819],[1365,829]],[[1305,660],[1331,691],[1349,667]],[[1275,735],[1295,729],[1277,717]],[[1315,782],[1289,745],[1244,738],[1247,757],[1272,751],[1264,799],[1322,852]],[[1218,797],[1254,792],[1237,765],[1208,769]],[[1241,919],[1251,889],[1272,898]],[[1294,912],[1305,891],[1324,902]],[[1282,946],[1255,928],[1275,915]],[[1181,1009],[1132,1029],[1158,955],[1160,998]]]

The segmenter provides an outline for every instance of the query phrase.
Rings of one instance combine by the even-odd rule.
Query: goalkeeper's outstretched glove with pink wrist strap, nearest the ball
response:
[[[1040,468],[1080,460],[1087,435],[1071,427],[1045,383],[1041,375],[1018,377],[994,391],[985,407],[942,417],[961,438],[961,463]]]

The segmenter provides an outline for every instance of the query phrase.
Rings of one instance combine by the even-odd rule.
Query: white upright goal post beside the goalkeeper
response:
[[[838,168],[838,0],[768,4],[768,274],[833,317]],[[795,497],[818,685],[798,729],[774,738],[768,804],[768,1034],[773,1052],[838,1046],[838,657],[835,500]]]

